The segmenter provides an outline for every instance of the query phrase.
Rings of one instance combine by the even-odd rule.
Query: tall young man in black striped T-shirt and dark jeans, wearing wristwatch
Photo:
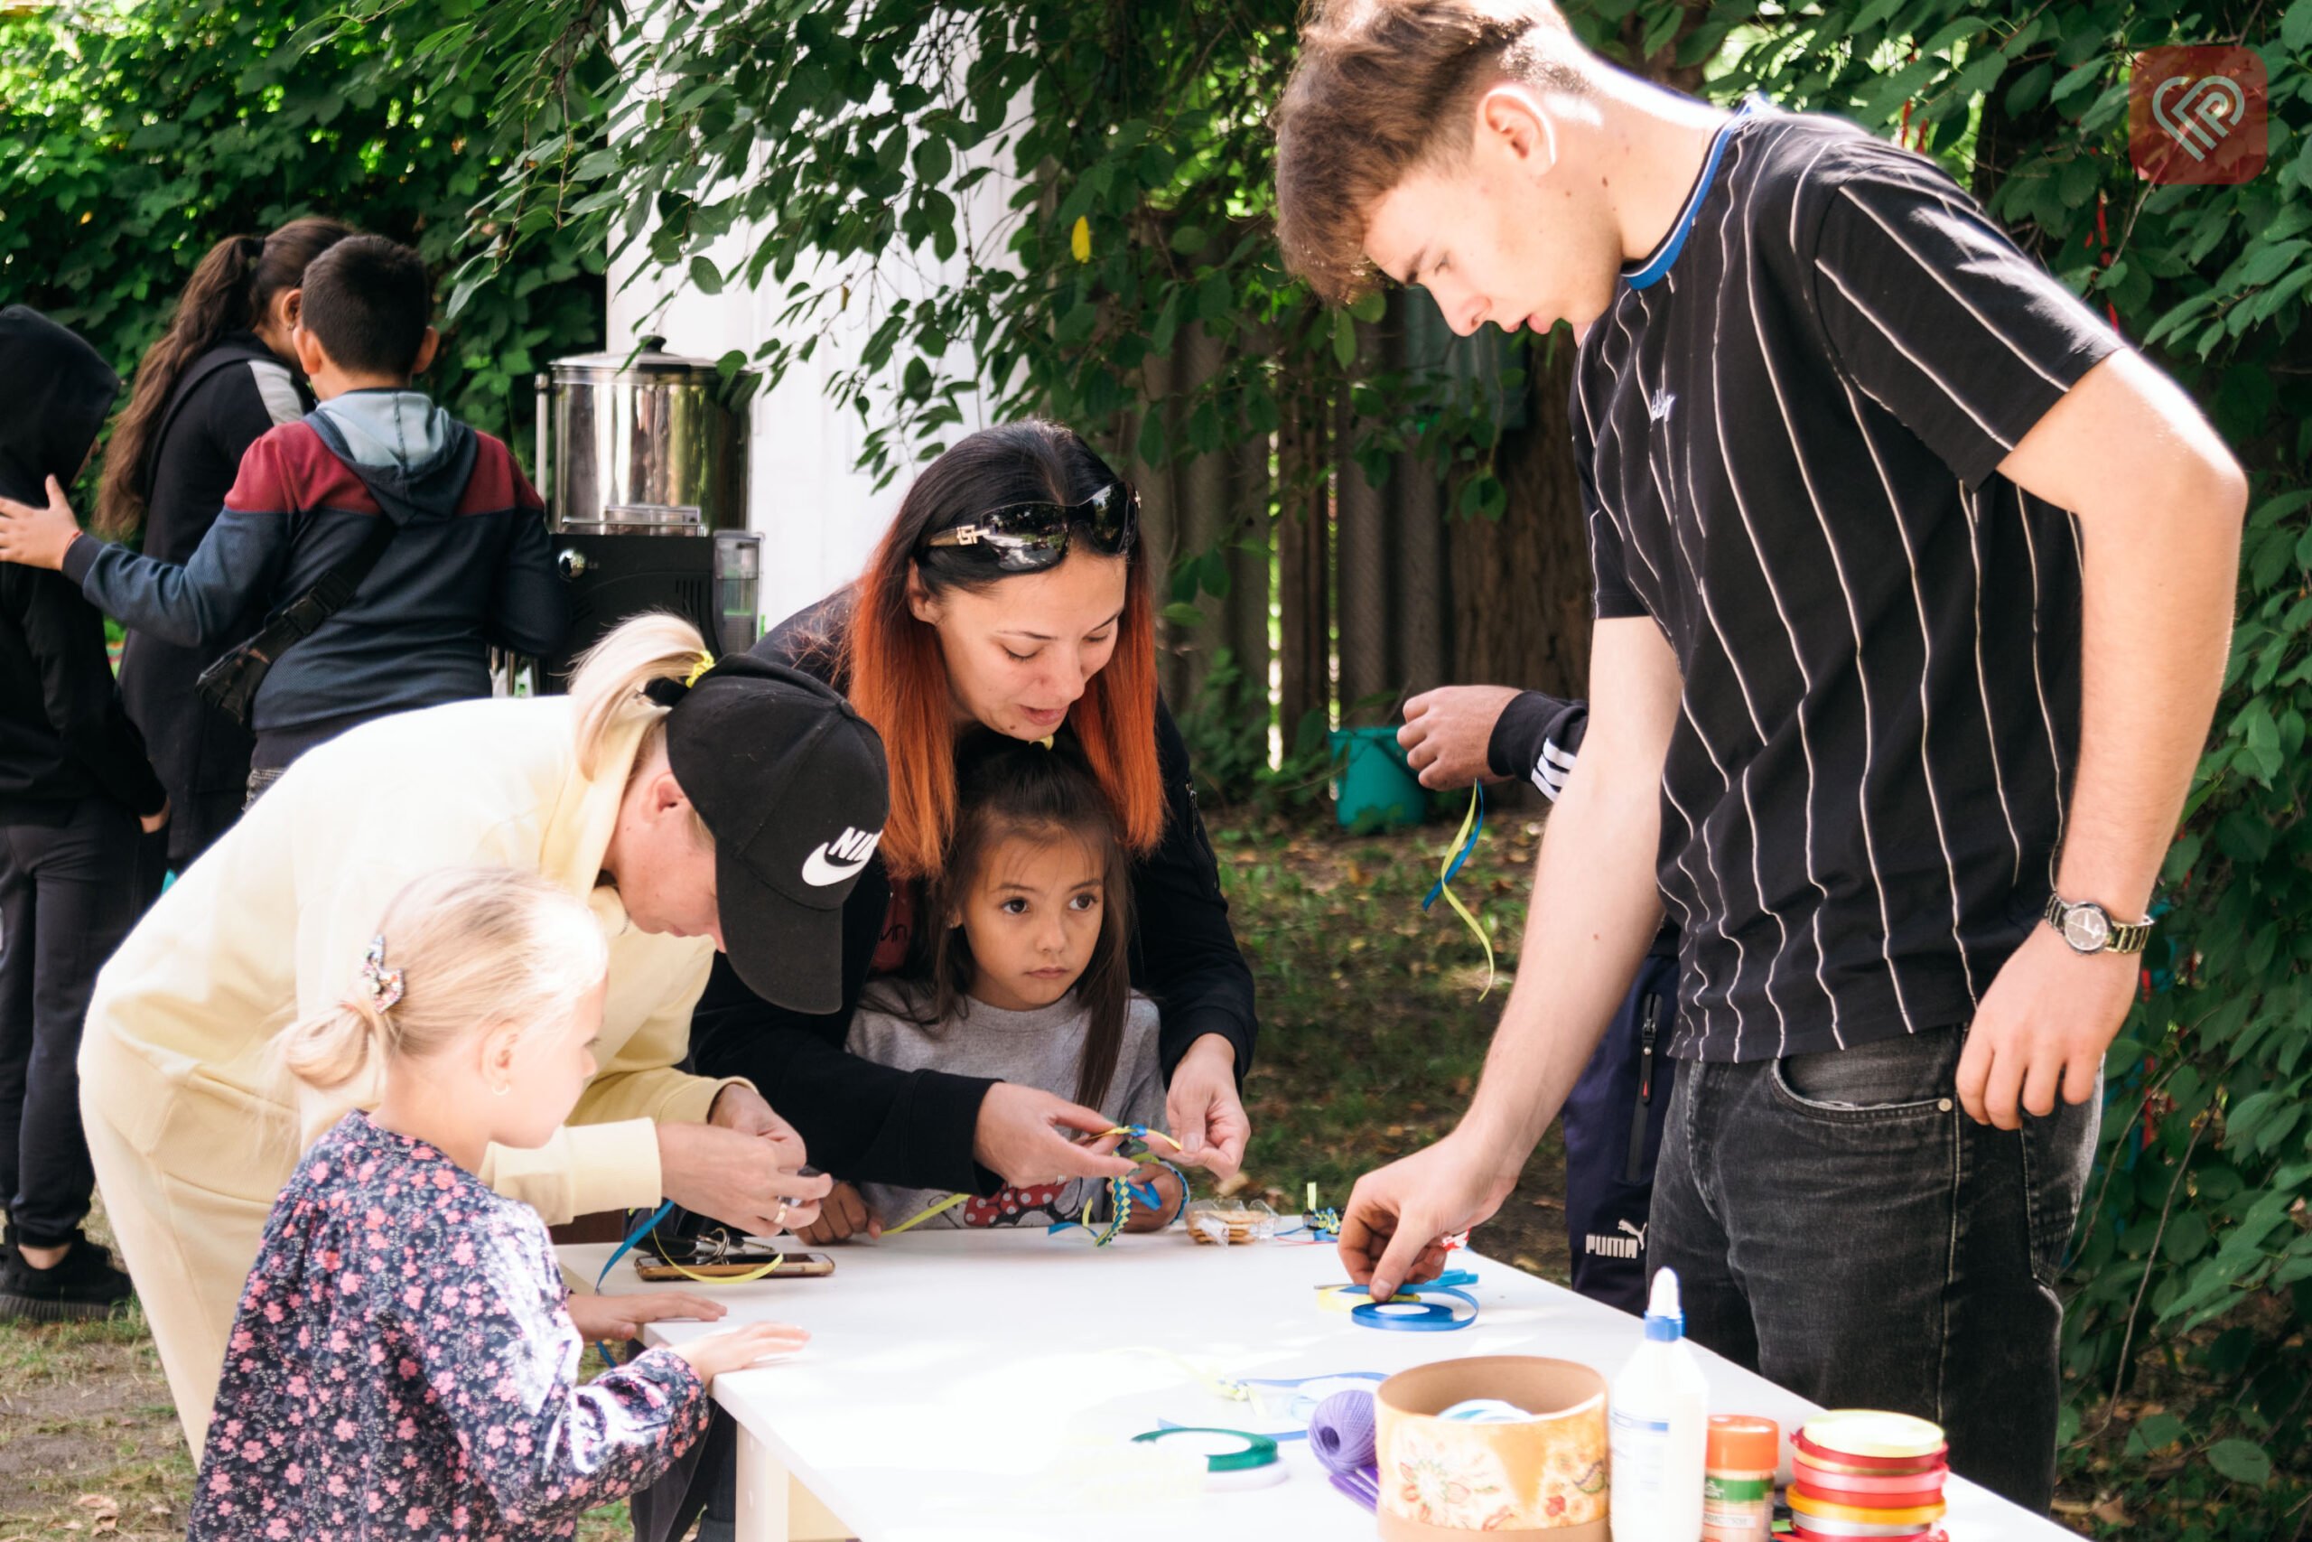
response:
[[[1588,737],[1477,1096],[1357,1184],[1353,1274],[1387,1295],[1503,1202],[1667,899],[1648,1253],[1688,1327],[2046,1505],[2055,1269],[2215,707],[2238,465],[1931,160],[1655,90],[1544,0],[1322,7],[1276,178],[1318,294],[1581,335]]]

